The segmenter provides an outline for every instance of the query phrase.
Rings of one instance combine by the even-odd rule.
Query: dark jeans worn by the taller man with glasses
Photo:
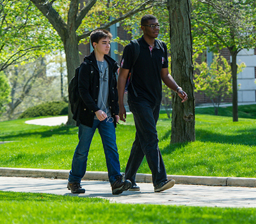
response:
[[[167,180],[166,170],[158,147],[156,123],[159,118],[160,104],[150,105],[147,101],[128,100],[129,109],[133,114],[136,136],[132,144],[131,154],[125,168],[125,179],[135,182],[136,173],[146,156],[152,172],[154,186]]]

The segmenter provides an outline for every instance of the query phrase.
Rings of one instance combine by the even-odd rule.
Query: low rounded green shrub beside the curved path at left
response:
[[[26,109],[19,118],[33,118],[36,116],[58,116],[68,114],[67,102],[45,102]]]

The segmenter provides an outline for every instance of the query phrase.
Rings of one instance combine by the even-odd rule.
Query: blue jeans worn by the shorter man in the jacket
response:
[[[69,182],[81,182],[81,179],[86,172],[88,152],[92,143],[93,134],[97,128],[99,129],[104,148],[109,182],[113,184],[113,182],[116,181],[116,177],[121,176],[119,155],[116,147],[115,126],[113,123],[106,122],[106,120],[103,120],[102,122],[94,120],[93,127],[88,127],[83,124],[79,125],[79,143],[74,153],[72,169],[70,170],[68,177]]]

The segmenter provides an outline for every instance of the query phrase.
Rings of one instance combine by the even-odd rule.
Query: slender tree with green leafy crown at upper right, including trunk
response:
[[[217,51],[227,47],[232,56],[233,121],[238,120],[237,53],[256,47],[255,0],[193,0],[195,49]],[[200,47],[199,47],[200,46]]]

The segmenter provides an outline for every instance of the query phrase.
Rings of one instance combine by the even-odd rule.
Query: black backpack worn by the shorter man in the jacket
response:
[[[80,66],[76,68],[76,73],[75,76],[72,77],[70,83],[68,84],[68,99],[70,102],[70,108],[71,108],[71,112],[74,115],[74,113],[76,112],[79,104],[80,104],[80,94],[79,94],[79,90],[78,90],[78,74],[79,74],[79,69]],[[90,68],[91,68],[91,81],[93,78],[93,65],[90,64]]]

